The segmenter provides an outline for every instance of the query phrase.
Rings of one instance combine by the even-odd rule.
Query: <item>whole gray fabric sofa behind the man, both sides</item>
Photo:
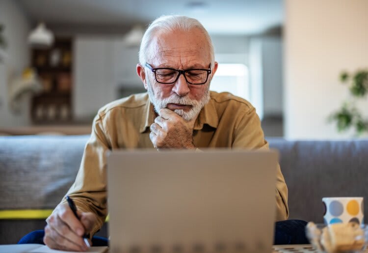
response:
[[[0,211],[53,209],[75,179],[87,140],[85,135],[0,137]],[[267,141],[280,151],[289,219],[321,223],[322,197],[367,197],[368,140]],[[0,244],[16,243],[44,226],[44,219],[0,219]],[[106,235],[106,225],[99,235]]]

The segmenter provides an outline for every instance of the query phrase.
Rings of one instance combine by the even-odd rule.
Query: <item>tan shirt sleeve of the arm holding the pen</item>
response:
[[[105,153],[110,149],[109,146],[101,117],[97,115],[93,120],[91,136],[84,147],[76,181],[67,193],[79,211],[96,215],[98,221],[90,232],[91,236],[102,227],[107,215]],[[65,202],[64,198],[60,204]]]

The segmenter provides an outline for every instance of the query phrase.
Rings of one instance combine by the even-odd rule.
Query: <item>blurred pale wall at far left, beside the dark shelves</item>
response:
[[[17,1],[0,0],[0,24],[5,26],[3,35],[7,41],[7,57],[0,62],[0,127],[25,126],[30,123],[30,98],[23,98],[21,112],[14,114],[9,109],[7,93],[9,78],[21,74],[29,64],[26,38],[30,23]]]

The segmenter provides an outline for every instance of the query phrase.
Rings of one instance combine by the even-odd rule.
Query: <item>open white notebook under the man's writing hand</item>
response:
[[[87,252],[105,253],[108,247],[91,247]],[[76,253],[73,251],[57,251],[42,244],[10,244],[0,245],[0,253]]]

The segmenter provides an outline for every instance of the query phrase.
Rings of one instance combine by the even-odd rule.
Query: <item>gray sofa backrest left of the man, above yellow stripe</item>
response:
[[[88,138],[0,137],[0,209],[53,209],[76,178]]]

